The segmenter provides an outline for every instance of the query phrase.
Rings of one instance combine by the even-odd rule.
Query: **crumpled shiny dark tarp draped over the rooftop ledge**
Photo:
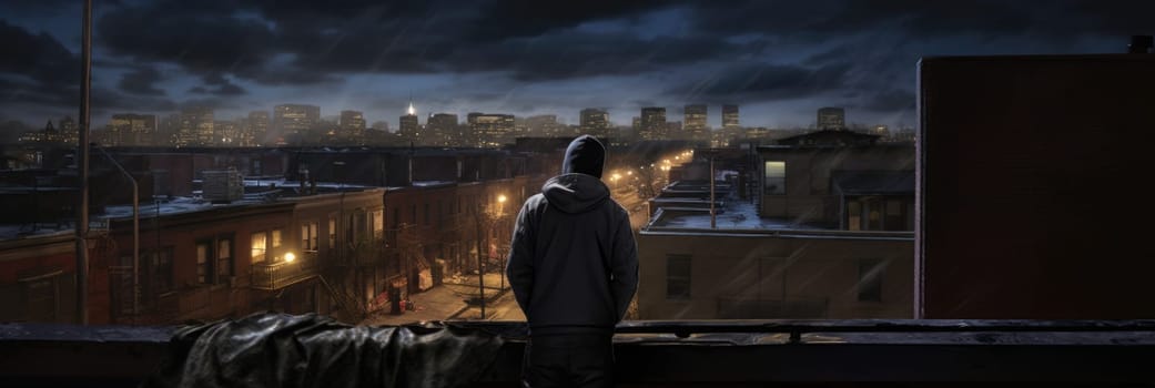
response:
[[[460,387],[501,337],[452,324],[355,327],[261,313],[185,327],[143,387]]]

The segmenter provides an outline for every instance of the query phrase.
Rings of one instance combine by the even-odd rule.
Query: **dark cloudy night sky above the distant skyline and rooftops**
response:
[[[95,0],[94,124],[282,103],[419,115],[742,106],[743,125],[914,125],[923,55],[1115,53],[1155,1]],[[0,120],[76,114],[81,1],[0,2]],[[383,3],[383,5],[382,5]]]

